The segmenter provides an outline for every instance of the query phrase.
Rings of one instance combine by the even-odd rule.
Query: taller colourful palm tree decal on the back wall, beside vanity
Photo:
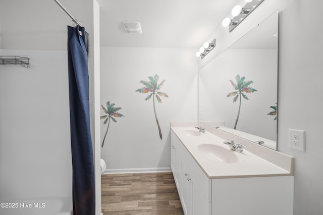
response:
[[[155,113],[155,119],[157,122],[157,126],[158,126],[158,131],[159,131],[159,137],[160,139],[163,138],[163,135],[161,134],[161,130],[160,130],[160,125],[158,122],[158,118],[157,118],[157,114],[156,114],[156,108],[155,108],[155,97],[157,102],[161,103],[161,99],[160,96],[164,96],[164,97],[168,97],[168,95],[166,93],[161,93],[157,90],[160,89],[160,87],[164,84],[165,80],[162,81],[160,84],[158,83],[159,80],[159,76],[155,75],[154,78],[152,78],[151,76],[148,77],[149,81],[140,81],[139,83],[143,84],[144,87],[136,90],[136,92],[139,93],[150,93],[145,100],[149,100],[152,97],[153,100],[153,112]]]

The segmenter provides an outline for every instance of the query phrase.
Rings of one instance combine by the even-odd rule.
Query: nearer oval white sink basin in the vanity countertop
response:
[[[197,147],[197,150],[207,158],[215,161],[224,163],[235,163],[238,161],[238,157],[231,150],[217,145],[201,144]]]

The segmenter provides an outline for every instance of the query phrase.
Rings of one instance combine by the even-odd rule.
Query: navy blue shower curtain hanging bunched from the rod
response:
[[[68,26],[73,214],[94,215],[95,185],[85,28]]]

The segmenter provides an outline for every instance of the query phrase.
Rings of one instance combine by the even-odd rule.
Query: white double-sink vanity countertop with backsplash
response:
[[[188,135],[187,130],[198,131],[195,126],[205,127],[205,133],[200,135]],[[180,139],[197,164],[209,179],[216,178],[240,178],[240,177],[265,177],[293,175],[294,158],[277,151],[264,148],[248,140],[200,123],[172,123],[171,129]],[[222,133],[224,132],[224,133]],[[216,134],[218,135],[216,135]],[[235,139],[236,144],[246,146],[243,153],[230,150],[224,141]],[[212,144],[230,150],[238,160],[234,163],[225,163],[203,155],[197,147],[200,144]]]

